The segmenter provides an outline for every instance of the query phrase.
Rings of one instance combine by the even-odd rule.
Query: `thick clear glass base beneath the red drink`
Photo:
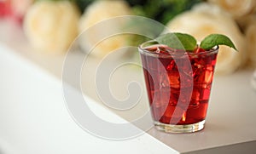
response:
[[[203,129],[205,126],[205,120],[199,123],[185,125],[173,125],[160,122],[154,122],[154,125],[155,128],[166,133],[192,133]]]

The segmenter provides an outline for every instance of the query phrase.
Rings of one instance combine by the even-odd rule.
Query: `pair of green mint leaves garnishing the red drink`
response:
[[[170,48],[185,49],[186,51],[195,51],[195,48],[197,48],[195,37],[185,33],[166,33],[155,38],[155,40],[156,42],[165,44]],[[217,45],[226,45],[230,48],[236,49],[237,51],[235,44],[232,43],[229,37],[226,37],[223,34],[208,35],[201,41],[199,48],[209,50]]]

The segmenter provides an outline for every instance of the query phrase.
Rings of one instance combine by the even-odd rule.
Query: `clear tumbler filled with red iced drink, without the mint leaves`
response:
[[[204,128],[218,46],[195,53],[148,41],[138,49],[155,127],[168,133]]]

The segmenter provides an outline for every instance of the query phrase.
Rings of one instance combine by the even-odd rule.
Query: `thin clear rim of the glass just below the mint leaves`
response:
[[[152,45],[148,45],[148,46],[145,46],[147,43],[155,43],[155,44],[152,44]],[[144,42],[142,44],[140,44],[138,46],[139,48],[139,52],[141,54],[149,54],[149,55],[152,55],[152,56],[162,56],[162,57],[169,57],[169,56],[182,56],[182,55],[201,55],[201,54],[214,54],[214,53],[217,53],[218,52],[218,45],[214,46],[213,48],[209,49],[209,50],[206,50],[204,52],[201,52],[201,53],[194,53],[194,52],[183,52],[183,53],[171,53],[171,54],[158,54],[158,53],[152,53],[150,51],[148,51],[147,48],[149,47],[154,47],[154,45],[164,45],[164,44],[160,44],[158,43],[157,41],[155,40],[149,40],[147,42]],[[182,51],[184,51],[183,49],[180,49]]]

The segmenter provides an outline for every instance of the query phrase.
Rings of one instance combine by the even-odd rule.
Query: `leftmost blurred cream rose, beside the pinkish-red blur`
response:
[[[78,35],[79,10],[68,1],[39,1],[28,10],[24,31],[34,48],[51,54],[67,51]]]

